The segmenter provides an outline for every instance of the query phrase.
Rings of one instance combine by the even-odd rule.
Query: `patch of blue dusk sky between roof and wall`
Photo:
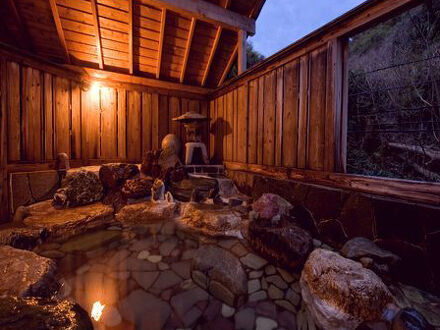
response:
[[[268,57],[358,6],[364,0],[267,0],[249,38]]]

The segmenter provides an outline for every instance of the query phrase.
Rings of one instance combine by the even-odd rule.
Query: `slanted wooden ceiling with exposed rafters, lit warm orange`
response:
[[[264,0],[3,0],[0,41],[51,61],[217,87]],[[255,25],[253,25],[255,26]]]

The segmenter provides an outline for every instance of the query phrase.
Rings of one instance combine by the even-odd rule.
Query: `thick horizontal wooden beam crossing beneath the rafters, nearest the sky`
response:
[[[250,35],[255,34],[255,19],[240,15],[236,12],[217,6],[203,0],[140,0],[141,4],[169,9],[183,16],[194,17],[197,20],[209,22],[216,26],[244,30]]]

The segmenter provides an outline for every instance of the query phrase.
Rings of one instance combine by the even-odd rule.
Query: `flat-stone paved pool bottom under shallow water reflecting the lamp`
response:
[[[191,260],[201,244],[232,252],[248,275],[248,299],[234,309],[196,286]],[[96,329],[314,329],[302,307],[299,275],[253,254],[245,240],[193,237],[173,221],[113,226],[45,244],[69,297],[87,311],[105,305]]]

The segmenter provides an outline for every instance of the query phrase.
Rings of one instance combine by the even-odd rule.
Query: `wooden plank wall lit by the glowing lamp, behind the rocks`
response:
[[[163,137],[184,130],[172,118],[193,110],[208,115],[208,102],[149,90],[115,87],[81,89],[60,76],[3,61],[5,120],[0,133],[6,165],[53,163],[64,152],[80,164],[141,162]],[[3,118],[3,117],[2,117]],[[204,134],[208,142],[208,133]]]

